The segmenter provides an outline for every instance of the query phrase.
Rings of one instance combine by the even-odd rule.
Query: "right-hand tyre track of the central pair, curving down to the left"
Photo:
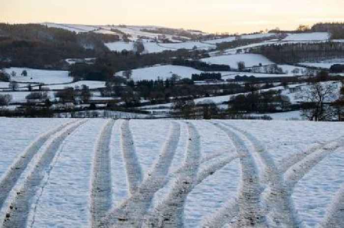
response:
[[[188,124],[189,142],[183,166],[176,172],[176,180],[168,196],[147,216],[145,228],[183,228],[183,212],[187,195],[197,183],[200,165],[200,136],[194,125]]]

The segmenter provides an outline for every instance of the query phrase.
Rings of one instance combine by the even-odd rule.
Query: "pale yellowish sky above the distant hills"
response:
[[[206,32],[344,21],[344,0],[0,0],[0,22],[162,25]]]

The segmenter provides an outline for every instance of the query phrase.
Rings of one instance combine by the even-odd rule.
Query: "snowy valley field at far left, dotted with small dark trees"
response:
[[[68,71],[37,70],[31,68],[17,67],[5,68],[4,70],[8,74],[11,74],[12,71],[16,72],[17,76],[11,76],[11,79],[17,82],[42,82],[44,84],[54,84],[69,83],[73,81],[73,77],[68,76]],[[28,76],[21,76],[24,70],[28,72]]]

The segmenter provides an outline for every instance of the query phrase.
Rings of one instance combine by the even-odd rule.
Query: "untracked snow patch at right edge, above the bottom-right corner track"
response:
[[[296,184],[292,200],[300,227],[316,227],[344,184],[343,150],[341,148],[326,156]]]

